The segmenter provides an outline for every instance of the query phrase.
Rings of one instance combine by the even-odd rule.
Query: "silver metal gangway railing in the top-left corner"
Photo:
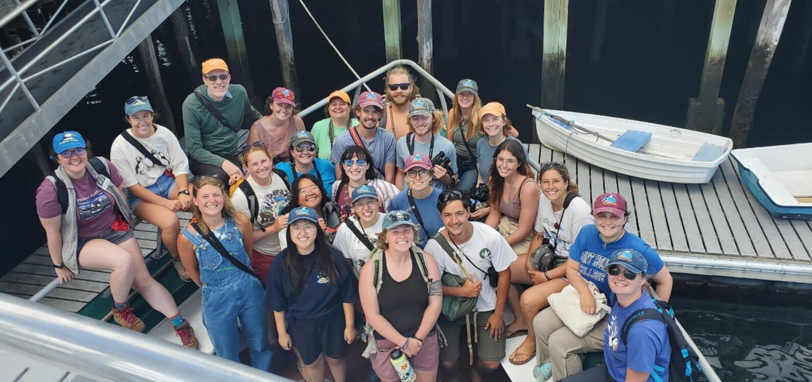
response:
[[[18,44],[15,44],[15,46],[11,46],[11,47],[8,47],[8,48],[5,48],[5,49],[0,49],[0,62],[2,62],[2,64],[5,65],[6,70],[11,75],[8,80],[6,80],[5,82],[2,83],[2,85],[0,85],[0,92],[5,90],[11,84],[13,84],[13,83],[15,84],[14,88],[11,89],[11,92],[9,92],[8,96],[6,96],[6,99],[3,100],[2,103],[0,103],[0,112],[2,112],[2,110],[8,104],[8,102],[11,101],[11,98],[14,97],[14,95],[17,92],[18,89],[24,93],[25,98],[28,98],[28,102],[31,104],[31,106],[34,108],[35,111],[41,111],[42,108],[40,106],[40,103],[37,102],[37,99],[35,99],[33,97],[32,93],[28,89],[28,86],[26,85],[26,83],[29,80],[37,78],[38,76],[42,76],[43,74],[45,74],[47,72],[50,72],[50,71],[52,71],[52,70],[54,70],[54,69],[56,69],[58,67],[61,67],[66,63],[70,63],[73,60],[79,59],[80,57],[83,57],[86,54],[92,53],[95,50],[99,50],[99,49],[101,49],[101,48],[103,48],[105,46],[108,46],[108,45],[114,43],[115,41],[117,41],[119,39],[119,37],[121,36],[121,33],[123,33],[124,28],[127,26],[127,23],[132,18],[133,13],[136,11],[136,9],[138,8],[138,6],[140,5],[140,2],[141,2],[141,0],[136,0],[136,2],[132,5],[132,9],[130,9],[129,13],[127,14],[127,18],[124,19],[124,22],[121,24],[119,30],[115,31],[113,26],[110,24],[110,20],[107,18],[107,15],[106,15],[106,13],[104,11],[104,7],[107,4],[109,4],[110,2],[113,2],[114,0],[105,0],[104,2],[99,2],[99,0],[92,0],[93,9],[91,11],[89,11],[89,13],[87,15],[84,15],[84,17],[82,17],[79,21],[77,21],[76,24],[71,25],[71,27],[68,28],[67,31],[65,31],[65,33],[63,33],[58,38],[56,38],[54,41],[52,41],[50,43],[50,45],[45,46],[45,49],[43,49],[33,59],[28,61],[28,63],[25,63],[23,65],[23,67],[19,67],[19,69],[18,69],[16,67],[14,67],[14,65],[11,62],[11,59],[9,59],[6,52],[18,49],[18,48],[23,47],[23,46],[28,46],[29,44],[33,44],[33,43],[35,43],[37,41],[40,41],[42,39],[42,37],[45,37],[46,33],[50,30],[52,24],[54,23],[54,20],[56,20],[58,18],[58,15],[63,11],[63,8],[67,5],[67,2],[69,0],[63,0],[63,2],[59,5],[58,10],[54,13],[54,15],[51,17],[51,19],[48,20],[48,22],[45,24],[45,26],[41,30],[37,29],[37,27],[32,23],[31,18],[28,17],[28,13],[26,12],[26,11],[28,11],[28,8],[30,8],[30,7],[34,6],[35,4],[37,4],[37,2],[39,2],[39,0],[28,0],[28,1],[23,2],[23,3],[20,3],[19,0],[16,0],[16,1],[18,3],[18,6],[15,7],[7,15],[4,15],[2,17],[2,19],[0,19],[0,28],[4,27],[6,24],[10,23],[11,20],[15,20],[15,18],[17,18],[19,16],[22,16],[24,18],[24,20],[26,21],[26,24],[28,24],[28,28],[31,30],[31,33],[34,35],[34,37],[31,37],[26,41],[19,42]],[[91,2],[91,0],[89,0],[88,2]],[[82,3],[79,7],[77,7],[77,9],[79,9],[81,7],[84,7],[85,4],[87,4],[88,2]],[[28,74],[28,71],[32,67],[34,67],[34,65],[39,63],[41,61],[41,59],[45,58],[45,56],[50,54],[50,52],[52,50],[56,49],[60,44],[62,44],[62,42],[65,41],[65,39],[67,39],[67,37],[69,37],[71,35],[71,33],[76,32],[76,30],[78,30],[81,26],[86,24],[95,15],[99,15],[102,18],[102,21],[104,22],[108,33],[110,33],[110,39],[109,40],[102,41],[102,43],[97,44],[96,46],[92,46],[87,50],[83,50],[83,51],[81,51],[79,53],[73,54],[73,55],[71,55],[71,57],[69,57],[67,59],[63,59],[63,60],[59,61],[58,63],[54,63],[50,67],[45,67],[45,69],[42,69],[39,72]],[[28,74],[28,76],[26,76],[27,74]]]

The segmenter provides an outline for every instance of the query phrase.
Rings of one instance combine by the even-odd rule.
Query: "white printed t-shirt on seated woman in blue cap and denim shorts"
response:
[[[144,154],[141,154],[136,146],[125,141],[120,135],[115,137],[113,145],[110,146],[110,162],[119,169],[123,188],[135,184],[143,187],[153,185],[166,170],[172,171],[175,176],[189,174],[189,161],[184,150],[180,148],[178,138],[168,128],[159,124],[155,124],[155,128],[155,133],[149,138],[133,136],[129,128],[123,133],[136,138],[136,141],[144,145],[144,148],[161,163],[153,163],[149,158],[144,158]]]

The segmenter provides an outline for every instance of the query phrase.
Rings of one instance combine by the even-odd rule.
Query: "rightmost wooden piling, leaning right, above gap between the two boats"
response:
[[[735,147],[745,147],[747,135],[753,125],[753,115],[761,93],[767,72],[770,70],[775,47],[784,29],[787,20],[789,4],[792,0],[767,0],[762,15],[761,24],[758,25],[758,34],[747,63],[747,72],[741,82],[739,98],[736,100],[736,110],[733,111],[733,120],[729,136]]]

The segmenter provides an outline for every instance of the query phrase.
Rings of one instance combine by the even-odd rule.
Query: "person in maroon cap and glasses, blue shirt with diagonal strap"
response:
[[[406,211],[411,220],[420,228],[421,248],[434,232],[443,228],[443,220],[437,211],[437,198],[440,190],[431,186],[431,161],[425,154],[414,154],[404,160],[408,188],[404,189],[389,204],[389,211]],[[417,241],[417,240],[416,240]]]

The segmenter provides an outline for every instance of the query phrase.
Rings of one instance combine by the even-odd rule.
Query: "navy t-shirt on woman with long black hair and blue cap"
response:
[[[344,302],[355,302],[358,298],[358,280],[344,255],[331,246],[329,250],[339,280],[330,283],[325,273],[319,271],[315,253],[296,255],[301,257],[304,273],[308,275],[298,297],[285,264],[290,254],[287,248],[279,252],[268,271],[265,305],[285,312],[285,319],[313,321],[335,314],[342,309]]]

